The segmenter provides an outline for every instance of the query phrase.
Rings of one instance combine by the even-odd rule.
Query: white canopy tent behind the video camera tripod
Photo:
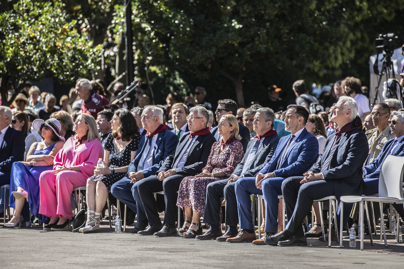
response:
[[[373,64],[376,61],[376,56],[372,55],[369,57],[369,71],[370,71],[370,84],[369,84],[369,96],[370,96],[370,104],[373,103],[373,100],[375,99],[375,90],[377,87],[377,80],[379,79],[379,75],[376,75],[375,72],[373,72]],[[378,68],[379,68],[379,72],[381,72],[381,67],[383,65],[383,61],[380,61],[383,58],[383,54],[380,53],[379,54],[379,63],[378,63]],[[396,48],[393,52],[393,56],[391,56],[391,61],[393,62],[393,68],[394,68],[394,74],[396,75],[396,79],[398,81],[400,81],[400,71],[401,71],[401,67],[404,64],[404,56],[401,54],[401,47],[400,48]],[[391,70],[390,70],[390,74],[391,74]],[[381,96],[382,92],[383,92],[383,82],[386,80],[386,75],[383,75],[382,79],[381,79],[381,85],[379,87],[379,94],[378,94],[378,98],[376,103],[383,101],[383,97]],[[371,108],[370,108],[371,109]]]

